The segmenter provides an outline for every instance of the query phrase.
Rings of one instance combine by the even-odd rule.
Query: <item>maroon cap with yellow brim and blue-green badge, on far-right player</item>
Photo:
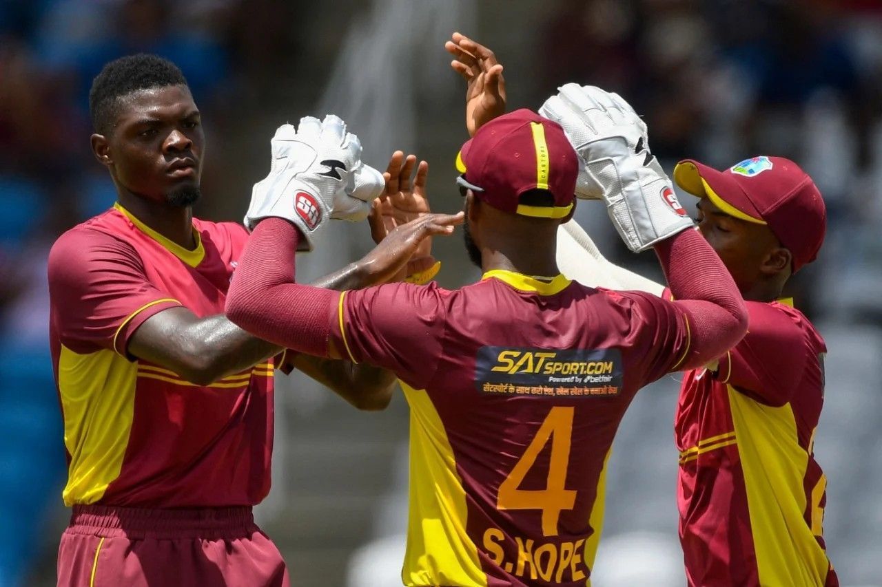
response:
[[[693,196],[707,197],[730,216],[765,224],[793,255],[793,271],[811,263],[826,233],[826,207],[818,186],[783,157],[751,157],[725,171],[687,159],[674,181]]]

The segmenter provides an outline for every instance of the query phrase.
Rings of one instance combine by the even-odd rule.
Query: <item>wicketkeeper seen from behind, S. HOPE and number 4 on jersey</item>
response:
[[[592,148],[621,169],[642,166],[645,130],[633,114],[609,119]],[[627,142],[617,139],[623,132]],[[620,212],[620,234],[655,248],[676,301],[581,286],[558,271],[557,229],[572,216],[579,164],[557,123],[529,110],[500,116],[458,161],[466,248],[484,271],[478,283],[343,294],[291,283],[290,251],[303,238],[292,202],[333,190],[271,174],[254,189],[247,218],[259,224],[227,313],[280,346],[374,363],[400,378],[411,409],[406,585],[584,585],[624,410],[643,385],[734,345],[746,327],[743,302],[691,219],[647,206],[669,185],[654,169],[617,178],[627,197],[609,205]],[[462,215],[411,224],[429,234]]]

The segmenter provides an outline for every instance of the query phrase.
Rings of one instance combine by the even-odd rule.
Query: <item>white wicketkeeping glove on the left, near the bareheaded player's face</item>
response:
[[[370,201],[385,187],[383,175],[362,162],[362,144],[335,115],[300,119],[295,130],[281,125],[271,141],[270,173],[251,190],[245,227],[270,216],[293,222],[305,237],[301,250],[312,250],[313,237],[325,221],[360,221]]]

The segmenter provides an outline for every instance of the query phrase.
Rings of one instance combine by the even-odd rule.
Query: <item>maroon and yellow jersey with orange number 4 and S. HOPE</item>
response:
[[[410,405],[407,585],[585,585],[613,436],[689,329],[649,294],[490,271],[343,294],[331,344]],[[404,350],[406,349],[406,350]]]

